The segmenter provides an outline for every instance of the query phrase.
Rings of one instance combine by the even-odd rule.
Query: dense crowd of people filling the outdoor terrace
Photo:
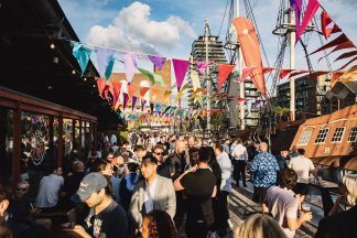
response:
[[[313,216],[304,202],[310,176],[322,182],[303,149],[273,155],[267,142],[133,132],[100,143],[105,151],[72,156],[37,185],[1,184],[0,237],[206,238],[230,229],[236,238],[294,237]],[[234,227],[229,194],[249,182],[261,210]],[[318,238],[354,237],[357,174],[345,175],[342,188]],[[51,219],[58,214],[65,218]]]

